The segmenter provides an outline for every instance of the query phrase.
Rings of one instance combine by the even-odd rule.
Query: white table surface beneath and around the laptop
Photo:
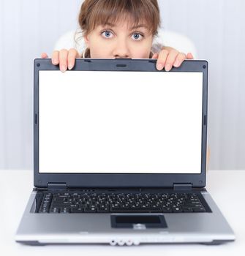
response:
[[[1,255],[244,255],[245,170],[208,170],[206,189],[214,198],[236,236],[235,242],[218,246],[162,244],[140,246],[48,245],[27,246],[15,242],[15,232],[33,187],[31,170],[0,170]],[[3,253],[4,252],[4,253]]]

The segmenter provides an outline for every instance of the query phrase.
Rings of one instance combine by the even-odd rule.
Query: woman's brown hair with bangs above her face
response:
[[[160,25],[157,0],[85,0],[78,22],[85,36],[96,26],[115,24],[119,18],[129,19],[132,26],[144,21],[150,33],[156,36]]]

